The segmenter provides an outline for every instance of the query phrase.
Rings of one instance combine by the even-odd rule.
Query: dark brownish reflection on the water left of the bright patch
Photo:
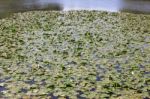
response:
[[[0,0],[0,18],[16,12],[35,10],[62,10],[56,2],[41,3],[38,0]]]

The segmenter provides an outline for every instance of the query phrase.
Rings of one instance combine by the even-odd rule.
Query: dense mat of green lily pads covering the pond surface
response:
[[[0,20],[1,98],[149,95],[150,15],[45,11]]]

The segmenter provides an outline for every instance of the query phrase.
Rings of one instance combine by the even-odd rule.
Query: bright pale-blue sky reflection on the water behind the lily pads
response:
[[[63,10],[107,10],[117,11],[120,0],[39,0],[39,3],[55,2],[63,5]]]

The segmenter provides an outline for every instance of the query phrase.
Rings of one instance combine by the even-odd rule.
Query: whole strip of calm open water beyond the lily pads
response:
[[[149,0],[0,0],[0,16],[32,10],[103,10],[150,13]]]

